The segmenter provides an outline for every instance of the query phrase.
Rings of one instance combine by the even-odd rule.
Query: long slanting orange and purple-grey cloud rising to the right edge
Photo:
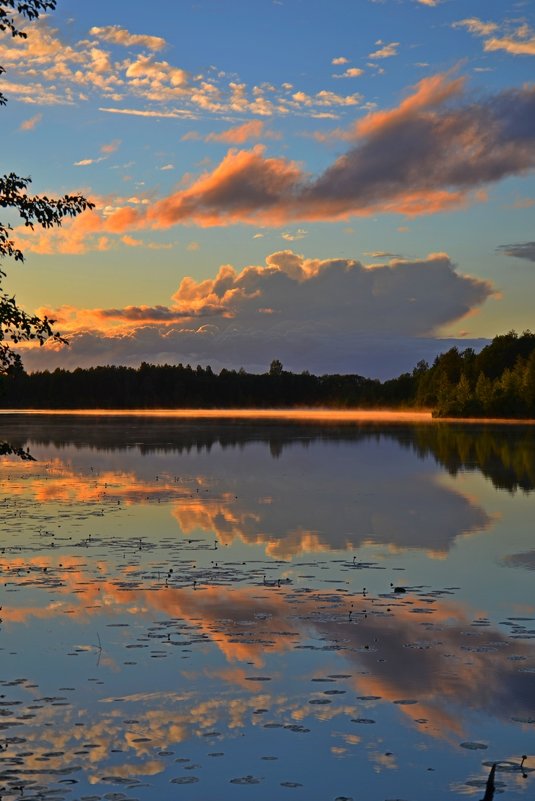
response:
[[[534,120],[533,86],[470,100],[463,78],[435,75],[397,107],[360,117],[344,134],[350,148],[317,177],[295,161],[266,156],[262,145],[231,148],[215,168],[142,208],[117,201],[105,214],[101,207],[57,231],[17,234],[28,250],[53,252],[47,242],[75,238],[83,247],[84,231],[94,237],[184,224],[287,227],[459,209],[484,200],[488,184],[535,167]]]

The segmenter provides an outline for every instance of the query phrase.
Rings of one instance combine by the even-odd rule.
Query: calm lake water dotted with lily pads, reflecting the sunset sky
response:
[[[3,798],[534,797],[535,427],[7,437]]]

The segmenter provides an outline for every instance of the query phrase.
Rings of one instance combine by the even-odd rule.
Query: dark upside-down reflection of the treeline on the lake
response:
[[[143,417],[26,418],[5,416],[6,427],[17,446],[61,448],[67,444],[97,450],[136,447],[143,454],[210,451],[214,446],[240,448],[265,443],[274,458],[284,448],[314,441],[362,442],[393,439],[418,456],[432,456],[456,475],[479,470],[499,489],[530,491],[535,488],[535,428],[491,424],[318,424],[294,421],[184,420]]]

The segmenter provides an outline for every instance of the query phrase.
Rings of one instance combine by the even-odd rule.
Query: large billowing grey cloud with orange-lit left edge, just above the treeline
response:
[[[265,369],[392,375],[443,347],[436,330],[473,312],[492,286],[462,275],[446,254],[365,267],[290,250],[263,266],[184,278],[169,305],[40,309],[71,339],[60,351],[25,355],[28,366],[200,362]],[[46,355],[45,355],[46,354]]]

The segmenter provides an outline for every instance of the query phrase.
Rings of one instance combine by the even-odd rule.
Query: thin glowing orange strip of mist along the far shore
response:
[[[431,410],[397,409],[0,409],[0,415],[56,417],[153,417],[201,420],[295,420],[340,423],[488,423],[534,425],[533,419],[433,417]]]

